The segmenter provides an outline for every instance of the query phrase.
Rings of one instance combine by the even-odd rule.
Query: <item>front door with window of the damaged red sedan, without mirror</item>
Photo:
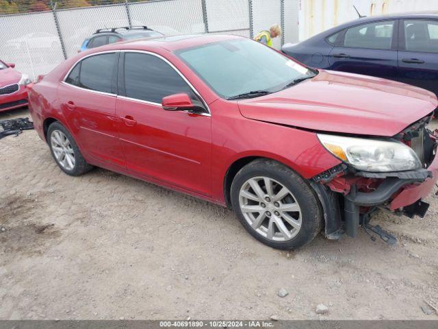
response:
[[[187,93],[202,104],[172,66],[150,53],[121,53],[116,114],[127,169],[211,195],[211,117],[166,111],[162,98]],[[204,106],[204,104],[203,104]],[[205,107],[205,106],[204,106]]]

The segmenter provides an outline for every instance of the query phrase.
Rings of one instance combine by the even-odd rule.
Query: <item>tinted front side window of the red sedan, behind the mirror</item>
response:
[[[146,53],[125,54],[125,92],[127,97],[161,103],[163,97],[187,93],[199,101],[192,88],[164,62]]]

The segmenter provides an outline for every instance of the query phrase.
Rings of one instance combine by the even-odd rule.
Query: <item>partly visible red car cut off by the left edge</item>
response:
[[[27,87],[31,80],[14,67],[15,64],[0,60],[0,112],[27,106]]]

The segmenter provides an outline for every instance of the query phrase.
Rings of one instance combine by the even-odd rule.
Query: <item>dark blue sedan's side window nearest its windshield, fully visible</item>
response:
[[[391,49],[394,21],[384,21],[350,27],[344,37],[344,47]]]

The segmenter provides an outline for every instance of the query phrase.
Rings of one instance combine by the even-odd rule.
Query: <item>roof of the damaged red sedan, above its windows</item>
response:
[[[116,49],[165,49],[167,51],[176,51],[179,49],[198,47],[207,45],[212,42],[224,40],[246,39],[242,36],[232,36],[229,34],[188,34],[177,36],[159,36],[156,38],[140,38],[117,42],[111,45],[99,47],[99,49],[116,50]]]

